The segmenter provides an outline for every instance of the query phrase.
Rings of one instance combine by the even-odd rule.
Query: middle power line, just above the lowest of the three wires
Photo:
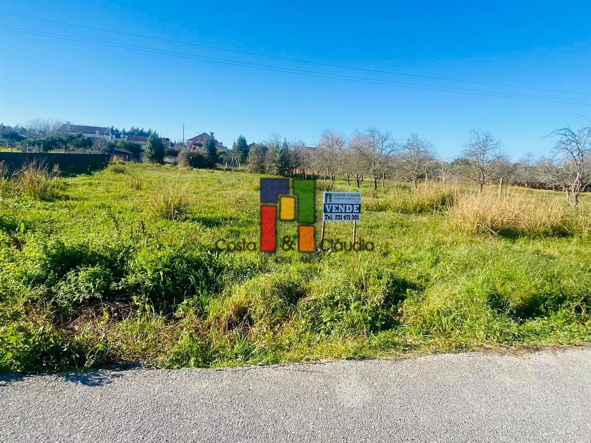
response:
[[[330,75],[330,76],[335,76],[335,77],[345,77],[345,78],[348,78],[348,79],[371,80],[373,82],[382,82],[384,84],[393,84],[395,86],[400,86],[400,85],[424,86],[424,87],[429,87],[429,88],[431,88],[431,87],[432,88],[437,88],[437,90],[439,90],[439,89],[441,89],[441,90],[447,90],[447,89],[449,89],[449,90],[458,90],[458,91],[484,92],[484,93],[488,93],[488,94],[503,94],[503,95],[508,95],[508,96],[530,97],[530,98],[536,98],[536,99],[569,100],[569,102],[583,102],[583,103],[586,102],[586,103],[591,103],[591,100],[583,100],[583,99],[566,99],[564,97],[534,96],[534,95],[529,95],[529,94],[518,94],[518,93],[514,93],[514,92],[498,92],[498,91],[488,91],[488,90],[480,90],[480,89],[466,89],[466,88],[461,88],[461,87],[439,86],[439,85],[432,85],[432,84],[408,83],[408,82],[393,82],[392,80],[374,79],[374,78],[370,78],[370,77],[346,76],[344,74],[333,74],[333,73],[325,73],[325,72],[319,72],[319,71],[310,71],[310,70],[304,70],[304,69],[295,69],[295,68],[287,68],[287,67],[269,66],[267,64],[250,63],[248,61],[239,61],[239,60],[230,60],[228,58],[200,56],[200,55],[197,55],[197,54],[181,53],[181,52],[178,52],[178,51],[171,51],[171,50],[167,50],[167,49],[165,50],[165,49],[151,48],[151,47],[138,46],[138,45],[132,45],[132,44],[128,44],[128,43],[119,43],[119,42],[106,41],[106,40],[96,40],[95,38],[79,37],[77,35],[56,34],[55,32],[38,31],[38,30],[31,30],[31,29],[26,29],[26,28],[16,28],[16,27],[7,26],[7,25],[0,25],[0,26],[2,26],[4,28],[10,28],[12,30],[35,32],[35,34],[31,34],[31,35],[39,35],[40,37],[48,37],[49,35],[57,35],[59,37],[73,38],[73,39],[76,39],[76,41],[80,41],[81,43],[86,43],[85,40],[87,40],[87,41],[89,41],[89,43],[90,42],[108,43],[108,44],[114,44],[114,45],[123,45],[125,47],[141,48],[141,49],[145,49],[145,50],[163,51],[165,53],[180,54],[182,56],[199,57],[199,58],[197,58],[198,60],[205,60],[205,61],[207,61],[207,59],[209,59],[209,60],[228,61],[228,62],[231,62],[231,63],[239,63],[241,65],[242,64],[246,64],[246,65],[260,66],[260,67],[267,67],[267,68],[274,68],[274,69],[282,69],[282,70],[289,70],[289,71],[298,71],[298,72],[309,73],[309,74],[321,74],[321,75]],[[43,35],[43,34],[48,34],[48,35]]]

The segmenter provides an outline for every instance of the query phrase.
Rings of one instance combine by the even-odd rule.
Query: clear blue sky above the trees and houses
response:
[[[187,2],[189,3],[189,2]],[[591,103],[591,2],[85,2],[3,0],[0,12],[269,56],[449,77],[573,95],[296,63],[0,15],[3,26],[249,63],[372,79]],[[30,118],[173,139],[214,131],[231,145],[272,131],[314,144],[323,128],[418,132],[446,157],[470,128],[492,131],[517,159],[547,152],[552,129],[591,106],[345,82],[0,31],[0,121]]]

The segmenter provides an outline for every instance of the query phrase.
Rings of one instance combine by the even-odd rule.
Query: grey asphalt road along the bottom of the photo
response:
[[[591,349],[0,376],[0,441],[586,441]]]

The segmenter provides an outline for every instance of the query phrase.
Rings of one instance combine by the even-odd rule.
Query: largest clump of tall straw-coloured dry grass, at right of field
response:
[[[557,200],[535,200],[512,192],[466,193],[447,210],[453,229],[504,236],[589,236],[588,211],[571,210]]]

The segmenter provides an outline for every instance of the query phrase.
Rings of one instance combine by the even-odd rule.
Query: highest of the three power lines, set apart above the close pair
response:
[[[384,70],[377,70],[377,69],[361,68],[361,67],[356,67],[356,66],[346,66],[346,65],[332,64],[332,63],[322,63],[320,61],[300,60],[298,58],[291,58],[291,57],[269,56],[267,54],[257,54],[257,53],[253,53],[253,52],[249,52],[249,51],[241,51],[241,50],[237,50],[237,49],[223,48],[223,47],[219,47],[219,46],[204,45],[204,44],[199,44],[199,43],[191,43],[189,41],[173,40],[170,38],[162,38],[162,37],[154,37],[154,35],[142,35],[142,34],[134,34],[133,32],[113,31],[113,30],[108,30],[105,28],[95,28],[92,26],[78,25],[78,24],[74,24],[74,23],[49,20],[49,19],[45,19],[45,18],[28,17],[27,15],[9,14],[8,12],[0,12],[0,14],[11,15],[12,17],[20,17],[20,18],[27,18],[27,19],[31,19],[31,20],[44,21],[44,22],[48,22],[48,23],[55,23],[55,24],[60,24],[60,25],[74,26],[74,27],[78,27],[78,28],[85,28],[85,29],[90,29],[90,30],[95,30],[95,31],[113,32],[115,34],[131,35],[133,37],[151,38],[152,40],[167,41],[169,43],[180,43],[180,44],[198,46],[198,47],[202,47],[202,48],[215,49],[215,50],[219,50],[219,51],[230,51],[233,53],[248,54],[249,56],[267,57],[267,58],[275,58],[278,60],[295,61],[296,63],[317,64],[317,65],[322,65],[322,66],[337,67],[337,68],[342,68],[342,69],[354,69],[354,70],[360,70],[360,71],[369,71],[369,72],[382,73],[382,74],[391,74],[391,75],[396,75],[396,76],[419,77],[419,78],[431,79],[431,80],[444,80],[446,82],[462,82],[462,83],[484,84],[487,86],[512,87],[512,88],[518,88],[518,89],[531,89],[531,90],[547,91],[547,92],[560,92],[560,93],[566,93],[566,94],[591,95],[591,93],[587,93],[587,92],[575,92],[575,91],[547,89],[547,88],[538,88],[538,87],[530,87],[530,86],[515,86],[515,85],[511,85],[511,84],[502,84],[502,83],[475,82],[472,80],[451,79],[451,78],[447,78],[447,77],[422,76],[422,75],[418,75],[418,74],[407,74],[407,73],[400,73],[400,72],[395,72],[395,71],[384,71]]]

